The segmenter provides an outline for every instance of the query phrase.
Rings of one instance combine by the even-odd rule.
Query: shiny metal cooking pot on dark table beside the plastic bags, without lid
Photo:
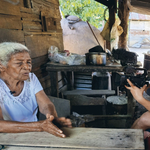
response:
[[[106,65],[106,53],[89,52],[86,53],[86,65]]]

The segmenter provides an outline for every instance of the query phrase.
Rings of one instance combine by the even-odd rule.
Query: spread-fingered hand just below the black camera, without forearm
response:
[[[143,99],[143,92],[146,88],[147,85],[144,85],[142,88],[138,88],[136,87],[129,79],[127,79],[127,82],[129,83],[130,87],[126,86],[125,87],[130,90],[130,92],[132,93],[133,97],[139,102],[141,103],[142,99]]]

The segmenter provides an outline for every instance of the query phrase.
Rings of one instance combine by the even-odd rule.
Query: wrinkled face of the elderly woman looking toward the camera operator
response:
[[[24,81],[29,78],[32,64],[28,52],[20,52],[11,56],[5,72],[14,80]]]

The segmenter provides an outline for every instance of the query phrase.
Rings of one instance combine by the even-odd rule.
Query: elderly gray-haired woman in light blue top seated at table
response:
[[[34,73],[26,46],[4,42],[0,44],[0,132],[41,132],[65,137],[53,124],[71,127],[70,119],[58,118],[53,103],[43,91]],[[38,121],[37,111],[46,116]]]

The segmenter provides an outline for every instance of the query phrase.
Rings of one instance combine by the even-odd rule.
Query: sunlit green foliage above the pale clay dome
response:
[[[104,20],[106,6],[94,0],[59,0],[59,3],[63,17],[74,15],[97,28],[102,26],[101,21]]]

